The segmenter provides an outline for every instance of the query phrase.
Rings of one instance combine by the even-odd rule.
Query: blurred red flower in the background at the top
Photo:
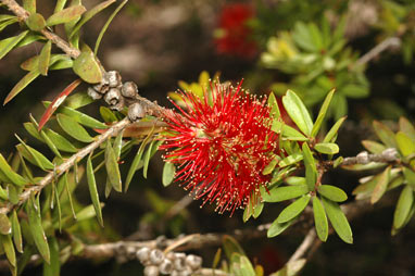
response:
[[[253,8],[244,3],[225,5],[219,15],[215,39],[218,53],[251,58],[256,53],[252,29],[247,22],[254,16]]]

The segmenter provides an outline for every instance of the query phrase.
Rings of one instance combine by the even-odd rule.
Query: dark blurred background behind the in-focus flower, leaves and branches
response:
[[[51,14],[53,1],[38,2],[41,13]],[[84,4],[89,9],[97,3],[90,0]],[[111,11],[103,11],[86,24],[83,36],[89,45],[95,43],[110,14]],[[13,32],[11,27],[2,35],[10,36]],[[397,37],[400,45],[368,63],[359,62],[390,37]],[[22,77],[15,64],[38,54],[40,49],[36,45],[21,48],[0,62],[2,98]],[[210,76],[217,74],[223,80],[238,81],[243,77],[243,86],[259,95],[274,91],[280,96],[290,88],[314,113],[318,111],[317,103],[336,87],[330,116],[336,120],[348,115],[349,121],[338,138],[344,156],[363,149],[360,140],[375,137],[370,130],[374,118],[388,121],[392,129],[397,129],[401,115],[411,122],[415,120],[413,0],[324,0],[318,3],[313,0],[130,0],[105,34],[99,59],[105,68],[120,71],[124,79],[136,81],[142,96],[168,106],[167,92],[189,86],[197,88],[197,83],[206,78],[206,73],[201,75],[203,71]],[[28,114],[39,117],[43,112],[40,101],[53,99],[73,79],[71,72],[50,72],[48,78],[37,79],[0,110],[3,134],[0,149],[4,156],[17,142],[14,133],[27,137],[22,124],[28,121]],[[98,117],[100,104],[91,104],[85,111]],[[128,156],[125,162],[129,162]],[[105,227],[100,228],[96,219],[85,221],[74,226],[77,229],[72,231],[73,240],[76,242],[80,237],[83,242],[93,243],[123,237],[144,240],[160,235],[231,231],[268,223],[280,211],[268,208],[256,221],[243,224],[242,212],[228,217],[214,213],[213,206],[200,209],[201,202],[194,201],[171,216],[168,210],[188,196],[177,185],[164,188],[162,170],[161,159],[154,158],[147,179],[135,179],[128,193],[113,193],[105,200]],[[361,176],[338,170],[326,177],[328,183],[350,192]],[[104,175],[97,176],[97,183],[103,184],[98,185],[102,188],[100,192],[104,181]],[[76,198],[75,208],[89,202],[85,179],[76,187]],[[330,239],[315,253],[302,275],[413,275],[414,224],[391,237],[392,212],[391,208],[385,208],[353,221],[354,244]],[[253,263],[264,266],[267,275],[280,268],[301,239],[302,234],[293,234],[246,241],[242,247]],[[206,248],[199,253],[209,264],[215,251],[215,248]],[[62,275],[74,272],[139,275],[142,266],[138,262],[80,260],[62,268]],[[35,267],[23,275],[40,273],[41,267]]]

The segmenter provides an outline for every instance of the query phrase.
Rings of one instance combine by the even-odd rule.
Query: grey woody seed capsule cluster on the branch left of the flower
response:
[[[88,88],[88,95],[93,100],[103,98],[112,110],[121,111],[124,106],[128,106],[128,117],[131,121],[137,121],[146,115],[143,108],[137,102],[137,85],[133,81],[123,84],[122,77],[116,71],[105,72],[101,83]]]

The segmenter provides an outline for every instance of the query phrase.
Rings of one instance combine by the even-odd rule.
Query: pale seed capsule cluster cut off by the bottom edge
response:
[[[202,258],[181,252],[164,254],[160,249],[141,248],[137,259],[144,266],[144,276],[190,276],[202,267]]]

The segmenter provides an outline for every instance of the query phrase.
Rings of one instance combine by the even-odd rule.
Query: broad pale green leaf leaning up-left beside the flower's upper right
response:
[[[313,121],[301,99],[291,90],[282,97],[282,104],[288,115],[305,135],[310,136],[313,129]]]

